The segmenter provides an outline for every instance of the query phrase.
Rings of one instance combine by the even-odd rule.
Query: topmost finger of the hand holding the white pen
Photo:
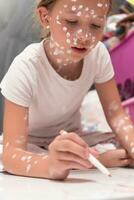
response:
[[[62,130],[60,131],[60,134],[61,134],[61,136],[59,137],[60,140],[69,139],[83,147],[88,147],[88,144],[76,133],[73,132],[67,133],[66,131]]]

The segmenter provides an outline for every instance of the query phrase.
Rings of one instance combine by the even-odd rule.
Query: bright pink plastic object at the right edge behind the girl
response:
[[[134,31],[110,51],[110,56],[114,66],[117,84],[120,84],[123,87],[127,80],[128,82],[132,82],[134,86]],[[129,97],[127,92],[130,90],[133,89],[128,88],[128,91],[123,91],[124,95]],[[123,101],[122,105],[134,122],[134,93],[132,96],[133,97]]]

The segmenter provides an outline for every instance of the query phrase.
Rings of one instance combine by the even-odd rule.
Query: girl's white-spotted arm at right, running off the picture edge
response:
[[[109,126],[120,144],[134,158],[134,127],[122,108],[114,79],[95,86]]]

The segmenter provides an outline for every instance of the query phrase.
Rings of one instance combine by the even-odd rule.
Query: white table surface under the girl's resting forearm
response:
[[[65,181],[0,173],[0,200],[134,200],[134,169],[72,171]]]

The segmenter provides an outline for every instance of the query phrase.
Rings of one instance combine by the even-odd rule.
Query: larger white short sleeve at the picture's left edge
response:
[[[15,58],[0,83],[2,95],[18,105],[29,107],[36,87],[36,73],[28,60]]]

